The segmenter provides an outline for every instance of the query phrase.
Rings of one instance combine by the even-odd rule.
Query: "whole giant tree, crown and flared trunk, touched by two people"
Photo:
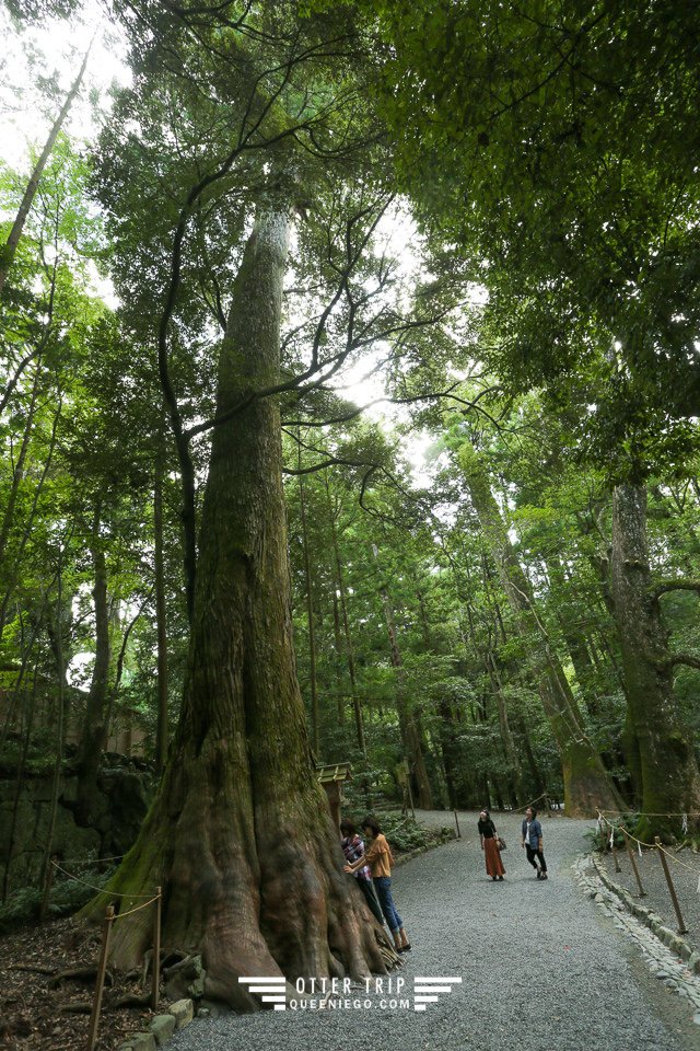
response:
[[[386,304],[375,309],[371,291],[385,284],[386,267],[377,258],[373,277],[365,262],[386,195],[366,185],[374,131],[349,69],[345,83],[331,76],[346,37],[330,38],[324,26],[303,35],[287,11],[235,23],[234,7],[214,16],[209,35],[199,26],[199,50],[176,18],[167,46],[156,27],[122,109],[137,124],[143,117],[151,139],[122,126],[103,143],[102,193],[125,234],[120,284],[136,290],[125,313],[158,351],[183,473],[191,623],[163,782],[110,889],[128,904],[163,885],[165,944],[201,951],[208,994],[249,1007],[255,997],[237,983],[244,974],[383,968],[342,874],[295,677],[280,399],[303,408],[305,396],[372,339],[390,338],[398,322]],[[152,211],[163,183],[165,207],[141,230],[130,206],[145,194],[141,215]],[[283,337],[288,245],[310,203],[320,217],[311,239],[318,305]],[[156,332],[143,284],[154,273],[164,286]],[[220,339],[208,316],[221,324]],[[185,383],[205,351],[214,384],[196,404]],[[201,500],[196,453],[207,464]],[[117,962],[145,948],[143,915],[115,932]]]

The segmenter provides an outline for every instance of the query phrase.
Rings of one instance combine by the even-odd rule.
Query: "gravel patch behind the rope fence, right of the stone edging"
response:
[[[700,880],[700,855],[691,851],[680,851],[676,854],[669,850],[668,868],[670,871],[680,912],[685,921],[687,933],[684,939],[692,946],[696,951],[700,951],[700,894],[698,893]],[[639,888],[630,865],[626,851],[618,850],[617,856],[620,865],[620,873],[615,871],[615,863],[611,854],[598,855],[603,858],[610,879],[625,887],[630,893],[638,898],[640,903],[662,917],[667,927],[675,931],[678,925],[676,913],[668,893],[668,885],[664,870],[658,859],[656,851],[642,851],[640,857],[634,854],[639,875],[642,880],[642,887],[646,891],[645,898],[639,898]]]

